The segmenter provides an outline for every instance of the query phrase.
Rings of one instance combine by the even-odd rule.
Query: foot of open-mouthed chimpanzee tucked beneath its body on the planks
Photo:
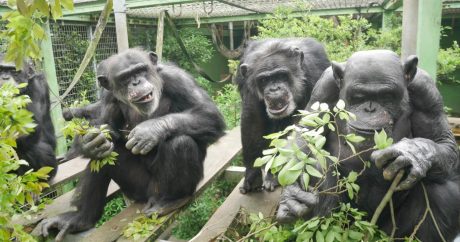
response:
[[[188,196],[173,201],[165,201],[151,197],[145,207],[142,209],[142,212],[147,217],[150,217],[154,213],[157,213],[159,216],[166,215],[187,204],[191,198],[191,196]]]

